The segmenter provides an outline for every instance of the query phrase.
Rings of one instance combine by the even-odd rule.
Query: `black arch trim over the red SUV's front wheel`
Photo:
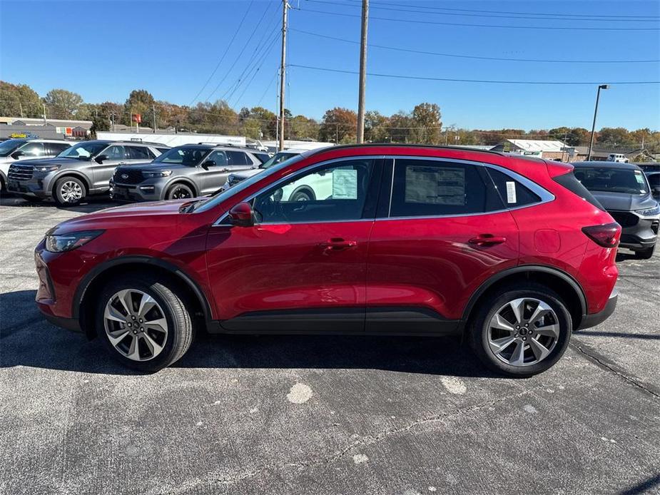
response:
[[[183,282],[186,282],[188,288],[190,288],[193,291],[193,294],[195,294],[195,296],[197,297],[198,302],[202,307],[202,311],[204,313],[204,319],[206,320],[206,322],[210,322],[212,320],[212,313],[210,310],[208,298],[205,296],[203,290],[200,288],[198,283],[195,282],[195,280],[193,280],[193,277],[188,275],[186,272],[183,272],[183,270],[181,270],[180,267],[173,265],[170,262],[161,260],[156,257],[145,256],[145,255],[131,255],[131,256],[117,257],[112,260],[103,262],[101,263],[101,265],[97,265],[96,267],[93,267],[83,277],[81,282],[78,284],[78,287],[76,288],[76,293],[73,297],[73,303],[71,307],[72,317],[76,319],[80,318],[81,302],[83,300],[83,297],[85,297],[85,293],[87,292],[88,287],[92,284],[94,280],[96,280],[96,277],[103,274],[112,267],[116,267],[119,265],[127,265],[129,263],[138,263],[146,266],[156,266],[159,268],[163,268],[164,270],[171,272],[172,275],[175,275]]]

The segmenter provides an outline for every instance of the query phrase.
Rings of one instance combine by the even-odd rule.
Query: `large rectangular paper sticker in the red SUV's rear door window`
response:
[[[405,174],[405,202],[427,205],[465,204],[465,170],[408,166]]]

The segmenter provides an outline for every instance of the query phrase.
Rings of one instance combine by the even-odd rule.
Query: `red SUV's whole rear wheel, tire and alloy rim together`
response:
[[[556,292],[527,284],[506,287],[480,303],[468,331],[470,346],[487,367],[531,377],[562,357],[572,320]]]

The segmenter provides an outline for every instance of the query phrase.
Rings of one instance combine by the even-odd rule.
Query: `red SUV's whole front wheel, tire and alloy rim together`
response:
[[[98,335],[121,364],[156,372],[186,353],[193,340],[191,313],[176,285],[152,277],[121,277],[101,292]]]

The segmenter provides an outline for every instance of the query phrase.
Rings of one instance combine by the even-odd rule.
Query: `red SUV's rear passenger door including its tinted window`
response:
[[[517,225],[479,164],[395,158],[382,182],[366,330],[451,332],[477,287],[517,264]]]

